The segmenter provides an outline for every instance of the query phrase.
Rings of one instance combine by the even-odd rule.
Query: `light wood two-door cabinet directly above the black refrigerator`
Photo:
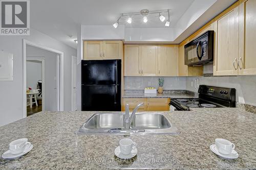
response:
[[[122,59],[122,41],[84,41],[83,59]]]

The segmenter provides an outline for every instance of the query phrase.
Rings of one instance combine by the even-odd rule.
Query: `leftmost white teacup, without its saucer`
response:
[[[30,145],[31,143],[28,142],[27,138],[17,139],[17,140],[13,140],[9,144],[9,150],[11,154],[14,154],[14,155],[20,154],[20,153],[23,153],[26,148],[29,148]]]

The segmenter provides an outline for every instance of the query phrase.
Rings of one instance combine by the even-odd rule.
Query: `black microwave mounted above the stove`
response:
[[[185,46],[185,65],[203,65],[214,60],[214,31],[207,31]]]

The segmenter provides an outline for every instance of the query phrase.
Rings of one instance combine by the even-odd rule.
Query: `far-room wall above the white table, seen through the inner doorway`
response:
[[[27,87],[37,89],[37,81],[42,80],[42,62],[27,60]]]

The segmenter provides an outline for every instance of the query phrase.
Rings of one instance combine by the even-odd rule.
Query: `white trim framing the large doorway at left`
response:
[[[60,56],[60,73],[59,73],[59,109],[58,111],[64,110],[64,53],[58,50],[54,50],[53,48],[49,48],[47,46],[39,45],[37,43],[28,41],[23,39],[23,117],[27,117],[27,94],[26,94],[26,45],[31,45],[37,48],[41,48],[42,50],[47,50],[53,53],[57,53]]]

